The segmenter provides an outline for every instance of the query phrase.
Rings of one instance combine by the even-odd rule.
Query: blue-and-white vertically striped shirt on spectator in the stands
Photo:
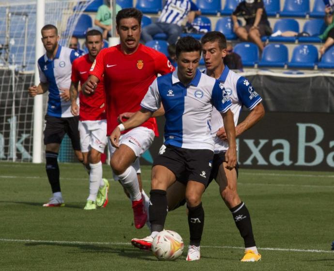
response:
[[[167,0],[158,22],[181,26],[189,11],[197,10],[197,5],[190,0]]]

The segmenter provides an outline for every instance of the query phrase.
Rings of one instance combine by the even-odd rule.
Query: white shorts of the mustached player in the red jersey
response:
[[[129,148],[131,148],[132,151],[135,152],[137,156],[136,161],[132,163],[132,166],[136,169],[137,174],[141,172],[139,157],[151,147],[154,136],[154,132],[151,129],[146,127],[137,127],[121,135],[120,137],[119,145],[124,144],[128,146]],[[116,151],[116,148],[111,145],[110,139],[108,139],[108,148],[111,157]],[[113,175],[115,181],[119,180],[115,174]]]

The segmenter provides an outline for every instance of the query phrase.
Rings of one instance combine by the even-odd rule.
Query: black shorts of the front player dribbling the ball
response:
[[[191,150],[171,145],[154,159],[153,166],[166,166],[176,180],[186,184],[187,181],[198,181],[208,185],[213,160],[213,151]]]

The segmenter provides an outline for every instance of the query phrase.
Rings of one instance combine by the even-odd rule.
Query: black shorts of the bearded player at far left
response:
[[[66,133],[71,139],[73,149],[80,151],[80,136],[78,130],[79,116],[70,118],[57,118],[46,115],[45,120],[45,145],[51,143],[61,144],[61,141]]]

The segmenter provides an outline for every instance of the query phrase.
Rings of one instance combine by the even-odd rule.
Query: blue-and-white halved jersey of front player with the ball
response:
[[[208,123],[213,106],[225,113],[232,105],[222,82],[197,70],[190,84],[184,86],[176,69],[157,77],[140,105],[154,112],[161,102],[166,118],[165,145],[213,151],[214,141]]]

